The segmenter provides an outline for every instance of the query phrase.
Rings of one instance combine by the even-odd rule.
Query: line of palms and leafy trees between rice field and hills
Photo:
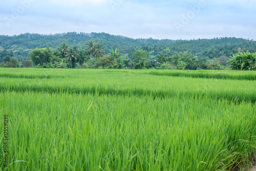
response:
[[[168,50],[169,48],[167,48]],[[132,57],[123,54],[119,49],[111,48],[105,54],[104,46],[92,39],[86,43],[86,48],[69,46],[63,42],[55,50],[49,46],[36,48],[29,52],[29,60],[19,62],[7,55],[0,67],[35,67],[35,68],[77,68],[77,69],[182,69],[182,70],[256,70],[256,53],[242,53],[241,48],[233,56],[221,55],[212,58],[195,56],[187,51],[155,54],[155,49],[135,49]]]

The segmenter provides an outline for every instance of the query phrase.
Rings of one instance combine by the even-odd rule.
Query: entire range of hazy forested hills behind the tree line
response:
[[[28,53],[35,48],[46,48],[50,46],[52,50],[66,42],[70,46],[78,46],[85,49],[89,40],[100,42],[103,45],[105,54],[110,53],[111,48],[120,49],[123,54],[129,54],[132,58],[136,49],[143,49],[151,52],[154,57],[157,54],[174,55],[175,52],[187,51],[195,56],[218,58],[221,55],[231,56],[237,52],[256,52],[256,41],[223,37],[213,39],[197,40],[170,40],[170,39],[153,39],[139,38],[133,39],[124,36],[115,36],[107,33],[59,33],[54,35],[42,35],[25,33],[14,36],[0,35],[0,62],[10,55],[18,59],[28,58]]]

